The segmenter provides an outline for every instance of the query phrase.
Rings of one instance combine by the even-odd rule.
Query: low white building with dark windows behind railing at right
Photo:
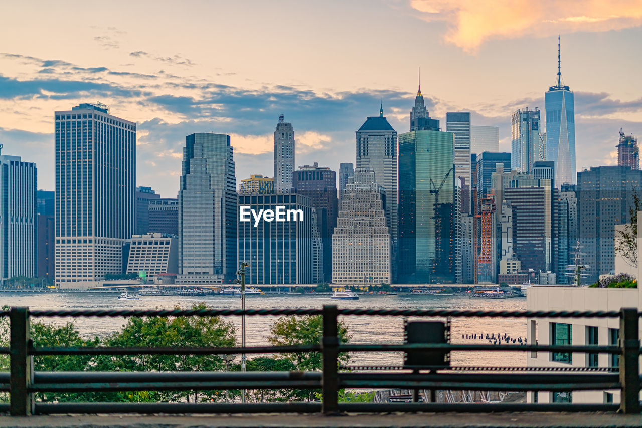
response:
[[[642,212],[638,212],[642,221]],[[638,253],[641,253],[638,232]],[[617,264],[617,263],[616,263]],[[638,266],[641,278],[642,263]],[[642,308],[642,289],[590,288],[568,286],[532,286],[526,295],[528,311],[620,311],[623,307]],[[642,337],[642,323],[639,337]],[[620,318],[532,318],[526,324],[526,337],[530,345],[618,345]],[[528,352],[529,367],[618,367],[619,355],[572,355],[556,352]],[[529,392],[527,402],[551,403],[619,403],[620,390]]]

